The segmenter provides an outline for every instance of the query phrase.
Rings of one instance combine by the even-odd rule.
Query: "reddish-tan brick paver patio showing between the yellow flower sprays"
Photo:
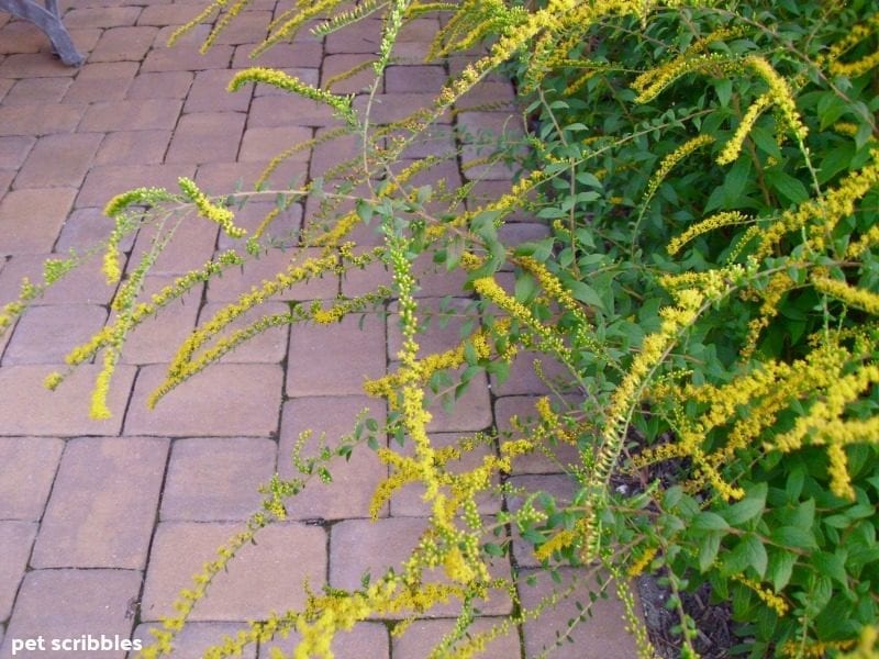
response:
[[[0,303],[14,298],[22,277],[38,280],[44,259],[105,236],[110,223],[100,209],[112,194],[134,186],[174,188],[179,176],[194,177],[210,192],[225,192],[237,179],[253,181],[275,152],[335,123],[324,108],[271,89],[224,91],[231,72],[249,65],[247,53],[277,11],[276,0],[255,0],[205,56],[197,54],[189,37],[175,49],[165,46],[202,0],[67,4],[75,7],[65,12],[65,23],[87,55],[79,69],[53,58],[47,40],[30,24],[0,16]],[[376,121],[430,103],[437,85],[460,70],[457,57],[442,66],[421,62],[437,25],[437,19],[422,18],[404,30],[400,52],[405,60],[388,71]],[[375,20],[324,40],[305,32],[269,51],[263,62],[313,83],[326,82],[370,57],[378,38]],[[363,83],[355,76],[336,91],[358,92]],[[492,80],[470,97],[467,102],[476,108],[509,102],[513,93],[509,83]],[[500,129],[505,120],[494,109],[443,121],[475,132]],[[355,146],[342,141],[299,154],[278,170],[276,182],[319,176]],[[441,126],[435,142],[410,156],[449,146],[452,133]],[[476,156],[474,147],[464,148],[465,159]],[[478,178],[476,190],[488,196],[503,190],[510,177],[498,166],[438,169],[450,183]],[[309,202],[292,208],[282,221],[307,228],[318,213]],[[516,220],[505,230],[509,237],[544,235],[545,228],[528,217]],[[368,232],[360,235],[365,244],[377,241]],[[148,235],[137,236],[129,253],[142,253],[148,242]],[[204,223],[183,228],[177,243],[156,264],[148,290],[225,247]],[[289,454],[301,431],[337,436],[367,405],[374,415],[383,415],[359,383],[364,376],[393,368],[400,340],[393,309],[387,321],[371,316],[363,327],[352,319],[321,331],[275,330],[180,387],[155,412],[145,409],[146,394],[187,332],[288,258],[289,253],[272,254],[242,273],[211,282],[138,330],[114,378],[114,416],[108,422],[87,416],[96,367],[82,368],[56,393],[42,387],[67,349],[108,317],[113,290],[103,284],[97,266],[65,279],[0,339],[0,657],[12,655],[14,641],[38,637],[45,651],[16,656],[124,657],[124,651],[52,651],[48,644],[84,635],[148,638],[148,628],[170,613],[175,594],[189,585],[193,571],[258,510],[258,484],[276,471],[290,474]],[[429,266],[423,270],[425,305],[460,294],[459,279],[438,277]],[[290,298],[332,299],[386,280],[387,272],[369,268],[299,287]],[[442,347],[455,334],[454,326],[436,327],[423,343]],[[436,440],[450,442],[461,433],[488,429],[515,411],[533,410],[542,384],[527,364],[516,365],[502,387],[475,380],[453,414],[436,414]],[[564,495],[569,483],[558,471],[552,461],[534,457],[513,478]],[[313,588],[356,588],[366,570],[377,574],[404,557],[423,527],[419,516],[424,505],[416,488],[409,488],[370,523],[369,498],[383,473],[371,453],[357,451],[351,463],[336,467],[333,487],[307,489],[291,507],[291,521],[262,533],[258,544],[246,547],[219,578],[179,637],[175,656],[194,659],[246,621],[301,605],[304,579]],[[490,514],[498,506],[486,501],[483,511]],[[514,547],[516,569],[533,570],[534,558]],[[509,574],[510,560],[498,561],[499,574]],[[533,604],[552,588],[541,577],[536,587],[523,589],[522,600]],[[539,654],[577,615],[572,606],[525,624],[491,645],[486,656]],[[491,616],[510,607],[508,597],[492,597],[477,628],[487,628]],[[402,638],[391,637],[393,621],[360,624],[340,639],[337,656],[419,659],[450,628],[452,619],[443,617],[450,613],[439,610]],[[557,656],[635,655],[615,601],[601,603],[594,619],[572,636],[577,645],[564,644]],[[268,645],[248,656],[268,657]]]

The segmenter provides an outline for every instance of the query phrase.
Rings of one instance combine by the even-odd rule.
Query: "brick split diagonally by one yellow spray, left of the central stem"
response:
[[[278,272],[288,267],[300,266],[309,258],[318,258],[320,249],[280,250],[272,249],[256,259],[246,261],[241,270],[230,270],[222,279],[213,279],[208,283],[209,302],[231,302],[243,293],[258,287],[265,280],[274,280]],[[338,276],[334,272],[300,282],[283,291],[278,300],[320,300],[332,299],[338,292]]]

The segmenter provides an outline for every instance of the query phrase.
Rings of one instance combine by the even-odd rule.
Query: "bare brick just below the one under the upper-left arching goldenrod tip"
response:
[[[171,137],[166,161],[210,163],[234,160],[238,153],[245,115],[237,112],[185,114]]]

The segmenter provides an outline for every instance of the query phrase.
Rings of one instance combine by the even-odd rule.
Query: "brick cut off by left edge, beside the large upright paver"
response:
[[[0,520],[40,520],[64,442],[49,437],[0,437]],[[0,582],[2,579],[0,579]]]

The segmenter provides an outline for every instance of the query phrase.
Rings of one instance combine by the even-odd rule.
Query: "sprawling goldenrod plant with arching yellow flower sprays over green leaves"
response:
[[[210,47],[246,4],[215,0],[182,32],[219,13]],[[375,123],[378,85],[400,30],[437,13],[443,27],[430,56],[466,51],[470,64],[437,90],[432,107]],[[732,608],[736,652],[875,656],[879,7],[869,0],[300,0],[268,25],[255,55],[308,26],[325,35],[378,15],[376,82],[360,109],[265,68],[242,71],[230,86],[274,85],[326,104],[340,127],[324,138],[358,136],[358,157],[298,189],[269,190],[271,169],[312,141],[272,160],[249,192],[209,199],[180,179],[179,192],[135,190],[108,205],[116,222],[108,279],[123,276],[115,256],[123,235],[146,223],[159,232],[124,275],[116,317],[68,359],[71,368],[93,357],[103,364],[97,417],[112,413],[107,390],[127,333],[196,282],[272,248],[272,221],[307,196],[322,201],[326,225],[296,236],[285,271],[186,339],[149,403],[277,324],[332,323],[393,299],[403,336],[398,370],[365,386],[387,403],[387,423],[364,418],[320,459],[296,457],[300,477],[267,485],[266,510],[183,591],[179,615],[165,621],[144,656],[166,655],[237,548],[285,518],[296,505],[289,498],[310,478],[327,478],[334,455],[348,456],[360,444],[374,446],[390,468],[374,515],[401,485],[424,487],[431,518],[411,557],[359,590],[309,592],[303,610],[254,623],[208,656],[234,656],[296,630],[294,657],[331,657],[334,635],[358,621],[411,618],[448,601],[459,604],[458,624],[433,656],[476,655],[559,597],[582,596],[571,588],[523,607],[519,593],[526,585],[490,570],[492,558],[510,550],[511,529],[547,569],[570,563],[596,571],[604,588],[613,583],[642,656],[655,650],[630,591],[639,574],[668,587],[682,657],[699,655],[699,635],[681,593],[705,582]],[[519,179],[482,205],[474,203],[470,183],[413,185],[442,156],[403,160],[407,148],[499,70],[518,80],[530,126]],[[507,141],[488,159],[521,156],[522,146]],[[278,208],[245,236],[226,202],[259,196],[277,197]],[[499,230],[522,210],[552,234],[504,245]],[[220,224],[240,247],[141,301],[143,278],[177,223],[199,220],[185,212]],[[349,236],[361,224],[378,227],[383,244],[357,248]],[[307,256],[304,247],[318,252]],[[465,323],[460,344],[436,355],[418,345],[426,314],[413,261],[424,254],[464,270],[461,295],[472,302],[474,322]],[[21,299],[3,308],[0,328],[85,256],[48,264],[45,284],[24,282]],[[224,334],[233,320],[297,282],[326,272],[356,277],[370,263],[386,265],[392,288],[326,308],[294,305]],[[514,272],[513,287],[498,277],[502,268]],[[460,392],[480,371],[502,379],[522,358],[534,359],[553,392],[533,417],[512,420],[510,436],[436,446],[425,396],[449,387]],[[550,377],[550,362],[564,375]],[[64,376],[52,375],[47,384],[58,387]],[[397,450],[380,439],[387,435],[413,450]],[[494,451],[476,468],[448,468],[486,443]],[[563,444],[579,455],[567,467],[572,502],[513,492],[505,477],[521,456],[552,457]],[[524,503],[486,516],[476,500],[485,491],[515,493]],[[496,591],[509,594],[514,613],[467,635],[480,602]]]

